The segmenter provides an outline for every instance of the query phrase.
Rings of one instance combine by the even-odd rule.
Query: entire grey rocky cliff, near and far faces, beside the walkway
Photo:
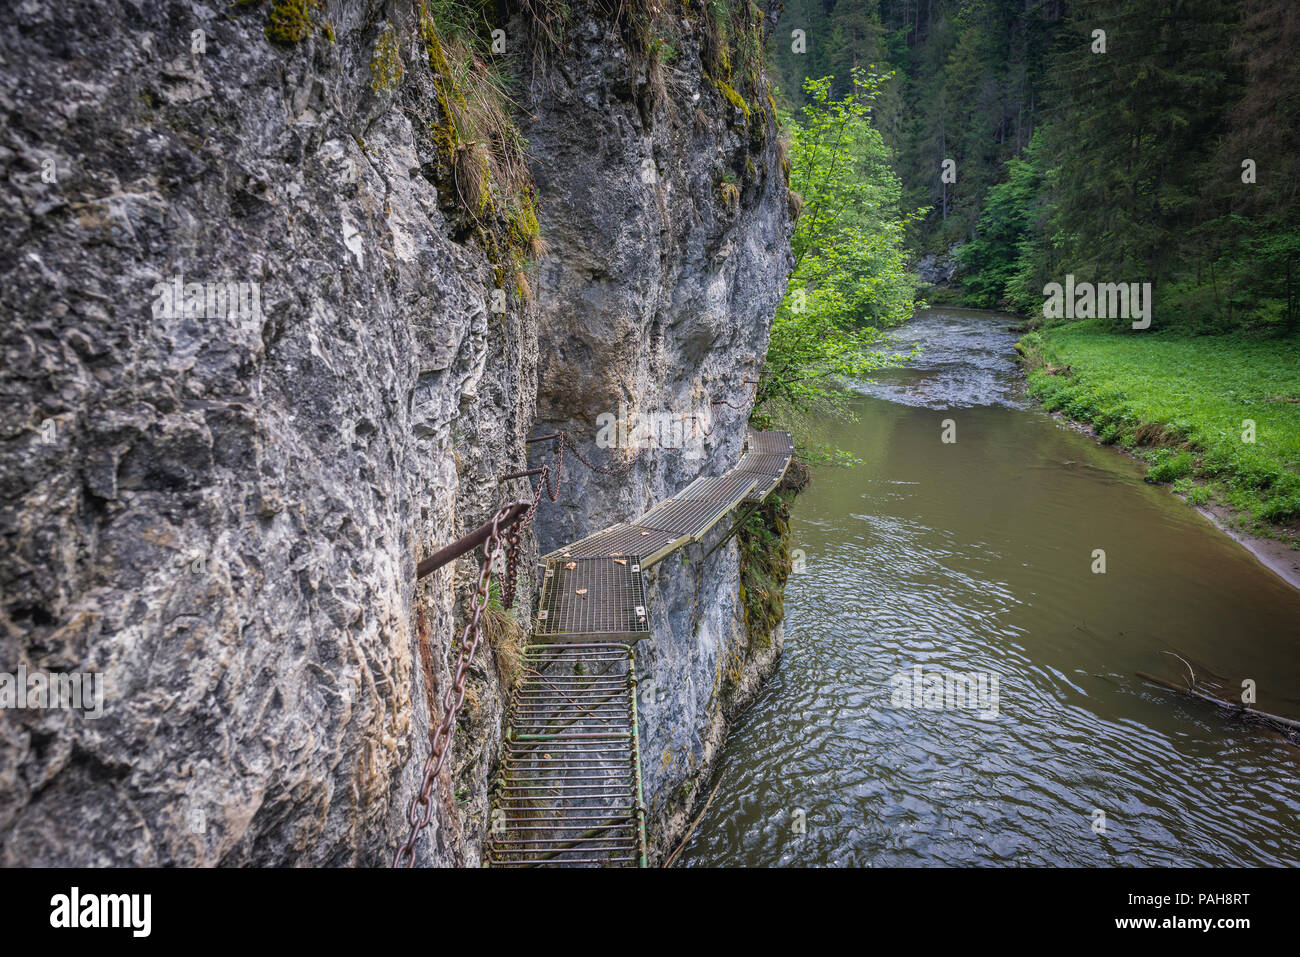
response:
[[[529,294],[467,218],[416,5],[84,7],[0,23],[0,670],[107,690],[99,719],[0,711],[0,861],[385,862],[476,571],[417,586],[417,559],[529,432],[582,441],[620,399],[741,410],[689,460],[571,471],[543,545],[738,454],[788,270],[775,131],[689,23],[660,72],[575,14],[525,95]],[[720,737],[733,546],[655,588],[667,823]],[[485,644],[421,863],[477,863],[500,701]]]

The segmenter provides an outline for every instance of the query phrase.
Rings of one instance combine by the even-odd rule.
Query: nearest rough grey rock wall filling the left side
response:
[[[413,9],[330,4],[283,48],[265,7],[18,7],[0,659],[107,698],[0,713],[0,859],[386,859],[428,746],[421,635],[442,685],[456,624],[456,570],[417,589],[415,564],[491,511],[536,390],[536,317],[490,312],[493,264],[452,238],[417,42],[373,83]],[[170,317],[173,281],[259,308]],[[480,809],[490,662],[456,754]],[[476,859],[459,818],[424,862]]]

